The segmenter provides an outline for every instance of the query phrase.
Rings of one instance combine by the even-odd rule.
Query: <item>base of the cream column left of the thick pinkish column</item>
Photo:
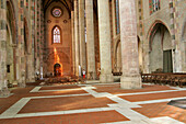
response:
[[[113,74],[109,74],[109,75],[100,75],[100,82],[101,83],[114,82]]]

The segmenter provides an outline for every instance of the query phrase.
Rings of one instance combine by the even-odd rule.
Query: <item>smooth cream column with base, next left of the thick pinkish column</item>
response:
[[[98,4],[98,34],[101,54],[101,82],[113,82],[112,56],[111,56],[111,24],[109,0],[97,0]]]

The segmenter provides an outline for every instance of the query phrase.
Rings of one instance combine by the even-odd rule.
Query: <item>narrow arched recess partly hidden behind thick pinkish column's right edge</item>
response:
[[[139,36],[138,36],[138,54],[139,54],[139,70],[140,70],[140,72],[142,72],[143,71],[143,68],[142,68],[142,43],[141,43]]]

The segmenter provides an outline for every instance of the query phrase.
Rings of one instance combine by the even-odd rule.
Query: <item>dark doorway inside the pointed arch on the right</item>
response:
[[[163,71],[173,72],[172,50],[163,50]]]

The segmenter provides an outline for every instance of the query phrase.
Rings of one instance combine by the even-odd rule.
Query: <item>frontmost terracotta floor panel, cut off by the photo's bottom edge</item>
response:
[[[116,111],[0,120],[0,124],[98,124],[129,121]]]

